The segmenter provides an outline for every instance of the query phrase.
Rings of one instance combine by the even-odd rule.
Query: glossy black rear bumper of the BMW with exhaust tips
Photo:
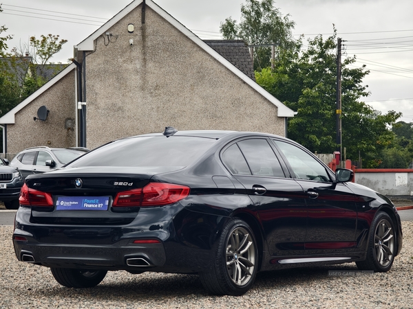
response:
[[[20,207],[13,233],[14,251],[19,261],[47,267],[138,273],[208,269],[220,229],[218,216],[182,206],[175,210],[171,214],[171,209],[145,209],[129,225],[108,227],[34,224],[30,222],[30,207]],[[143,225],[142,220],[151,222]],[[135,240],[159,242],[137,244]]]

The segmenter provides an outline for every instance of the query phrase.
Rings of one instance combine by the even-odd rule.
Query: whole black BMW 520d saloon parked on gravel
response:
[[[389,271],[399,214],[353,176],[284,137],[167,127],[28,176],[14,250],[69,288],[96,286],[107,271],[154,271],[198,273],[209,293],[242,295],[258,271]]]

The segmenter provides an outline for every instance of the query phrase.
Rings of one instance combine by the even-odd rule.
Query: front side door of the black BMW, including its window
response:
[[[330,253],[354,249],[357,208],[351,190],[345,183],[333,184],[332,173],[303,148],[288,141],[273,139],[273,142],[307,195],[306,251]]]

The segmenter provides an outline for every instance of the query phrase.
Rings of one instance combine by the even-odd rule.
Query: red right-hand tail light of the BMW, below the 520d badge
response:
[[[162,206],[189,196],[190,188],[171,183],[149,183],[142,189],[119,192],[113,207]]]

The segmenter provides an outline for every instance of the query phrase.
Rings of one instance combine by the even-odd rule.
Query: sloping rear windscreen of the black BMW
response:
[[[87,153],[69,166],[184,167],[204,154],[215,141],[184,136],[120,139]]]

